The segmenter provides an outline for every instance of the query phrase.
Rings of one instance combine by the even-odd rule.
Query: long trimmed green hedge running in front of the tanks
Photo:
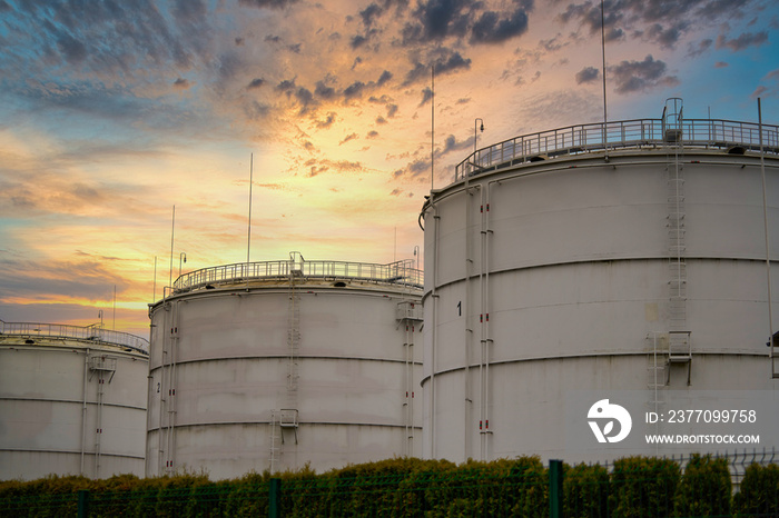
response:
[[[630,457],[563,467],[563,516],[777,517],[779,466],[752,465],[731,499],[724,459],[693,456],[682,475],[671,460]],[[538,457],[492,462],[396,458],[317,475],[277,475],[289,517],[548,517],[549,472]],[[205,475],[105,480],[47,477],[0,482],[0,516],[75,516],[88,490],[91,517],[256,517],[268,515],[269,472],[210,481]],[[731,515],[732,510],[732,515]]]

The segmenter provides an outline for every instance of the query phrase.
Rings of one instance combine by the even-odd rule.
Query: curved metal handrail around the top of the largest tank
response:
[[[760,150],[760,126],[714,119],[680,119],[686,147]],[[476,150],[455,166],[454,181],[485,170],[501,169],[540,159],[617,148],[642,148],[668,143],[662,119],[633,119],[568,126],[523,135]],[[605,140],[605,141],[604,141]],[[762,124],[765,152],[779,155],[779,126]]]

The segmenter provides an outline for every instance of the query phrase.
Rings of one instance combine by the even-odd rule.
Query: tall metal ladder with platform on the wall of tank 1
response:
[[[690,331],[687,329],[687,245],[684,226],[684,177],[682,100],[665,101],[662,117],[665,146],[665,170],[668,183],[668,365],[667,385],[671,380],[672,365],[687,365],[687,383],[691,381],[692,349]]]

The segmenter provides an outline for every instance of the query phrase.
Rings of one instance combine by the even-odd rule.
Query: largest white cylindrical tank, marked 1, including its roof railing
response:
[[[425,457],[779,445],[778,128],[676,102],[482,149],[432,191]]]

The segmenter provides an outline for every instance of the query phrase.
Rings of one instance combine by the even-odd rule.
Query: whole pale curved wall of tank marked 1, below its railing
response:
[[[667,351],[670,322],[678,318],[670,303],[665,166],[664,153],[651,152],[617,155],[608,165],[602,157],[550,160],[472,177],[471,196],[462,183],[433,196],[425,215],[426,457],[538,454],[602,461],[622,455],[573,455],[565,412],[574,395],[596,390],[638,392],[650,408],[651,359],[658,347]],[[702,153],[684,156],[682,166],[691,385],[687,365],[671,365],[671,382],[660,391],[693,400],[707,390],[771,394],[779,385],[765,346],[759,160]],[[777,229],[779,176],[772,166],[768,218],[769,229]],[[779,239],[770,246],[777,293]],[[775,316],[778,302],[775,296]],[[658,346],[651,337],[665,342]],[[634,454],[655,449],[623,452]]]

